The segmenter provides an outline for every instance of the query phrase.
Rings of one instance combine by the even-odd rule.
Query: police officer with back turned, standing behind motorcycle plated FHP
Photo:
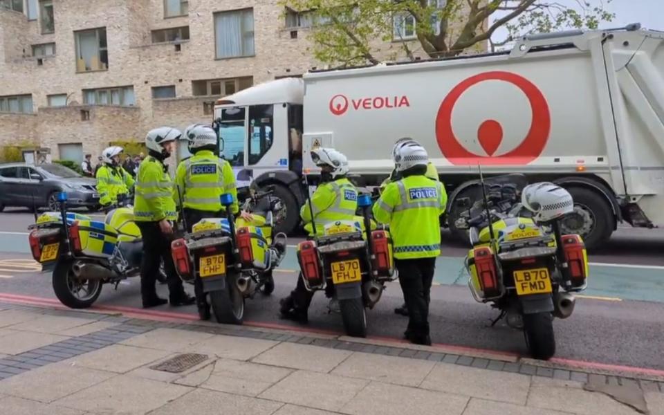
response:
[[[237,189],[235,176],[230,164],[214,154],[216,150],[216,132],[209,125],[192,124],[185,130],[185,140],[189,142],[192,157],[181,161],[175,174],[178,204],[183,206],[183,215],[187,223],[187,232],[203,218],[220,217],[225,208],[220,196],[228,193],[233,196],[230,210],[237,214]],[[242,212],[242,217],[250,221],[251,215]],[[200,278],[194,280],[196,306],[201,320],[210,320],[210,304],[203,293]]]

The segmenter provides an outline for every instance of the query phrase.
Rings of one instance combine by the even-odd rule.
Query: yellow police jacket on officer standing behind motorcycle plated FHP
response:
[[[239,212],[233,169],[228,161],[221,160],[210,150],[197,151],[183,160],[175,174],[175,185],[174,199],[185,208],[219,212],[223,209],[219,196],[230,193],[233,196],[230,211]]]

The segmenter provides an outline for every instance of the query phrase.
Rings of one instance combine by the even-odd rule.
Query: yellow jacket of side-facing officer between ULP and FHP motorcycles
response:
[[[171,176],[163,162],[153,156],[146,157],[138,167],[133,216],[138,222],[178,218]]]

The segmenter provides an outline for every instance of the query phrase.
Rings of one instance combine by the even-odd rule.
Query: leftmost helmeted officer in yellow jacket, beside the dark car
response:
[[[104,165],[97,170],[97,192],[102,208],[118,202],[118,194],[129,194],[133,187],[131,174],[120,165],[120,154],[124,149],[118,146],[108,147],[102,151]]]

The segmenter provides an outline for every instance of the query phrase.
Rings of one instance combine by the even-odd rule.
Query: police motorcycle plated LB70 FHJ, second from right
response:
[[[308,206],[313,218],[311,203]],[[362,216],[356,220],[308,223],[305,229],[314,237],[297,245],[297,261],[306,289],[324,291],[338,303],[347,335],[366,337],[366,308],[374,308],[385,283],[396,275],[389,232],[369,218],[371,196],[358,195],[358,207]]]

